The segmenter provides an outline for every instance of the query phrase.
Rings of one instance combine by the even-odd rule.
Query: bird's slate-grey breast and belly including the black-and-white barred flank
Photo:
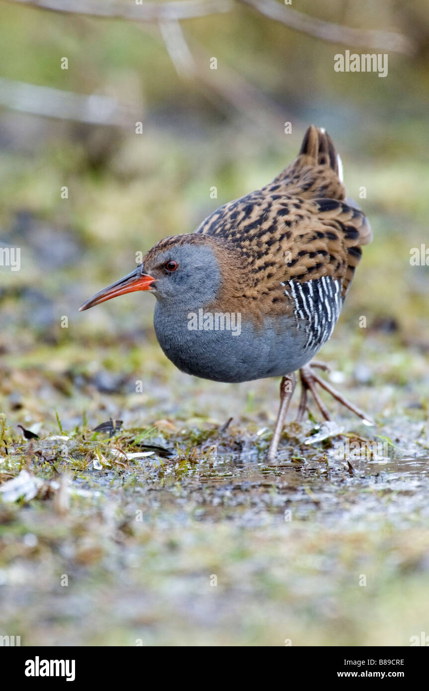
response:
[[[260,325],[240,312],[190,312],[157,301],[155,333],[166,357],[189,375],[228,382],[283,376],[309,362],[330,337],[340,292],[327,278],[301,287],[286,283],[293,314],[266,315]]]

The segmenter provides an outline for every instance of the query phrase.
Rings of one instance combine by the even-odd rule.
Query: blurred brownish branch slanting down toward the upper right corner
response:
[[[292,10],[289,6],[280,5],[276,0],[238,0],[256,12],[280,21],[296,31],[301,31],[323,41],[361,46],[374,50],[392,50],[393,53],[413,55],[416,52],[414,43],[408,37],[397,32],[376,29],[353,29],[323,19],[315,19],[302,12]]]

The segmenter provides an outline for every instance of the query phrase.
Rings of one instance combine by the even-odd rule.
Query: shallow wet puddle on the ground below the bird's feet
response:
[[[140,485],[140,490],[142,489]],[[153,478],[146,498],[156,495],[163,520],[176,511],[197,520],[229,520],[239,525],[299,518],[342,527],[371,527],[386,517],[412,522],[428,513],[429,459],[313,460],[267,466],[242,456],[218,456]],[[153,500],[149,500],[153,506]],[[175,516],[175,518],[173,518]]]

